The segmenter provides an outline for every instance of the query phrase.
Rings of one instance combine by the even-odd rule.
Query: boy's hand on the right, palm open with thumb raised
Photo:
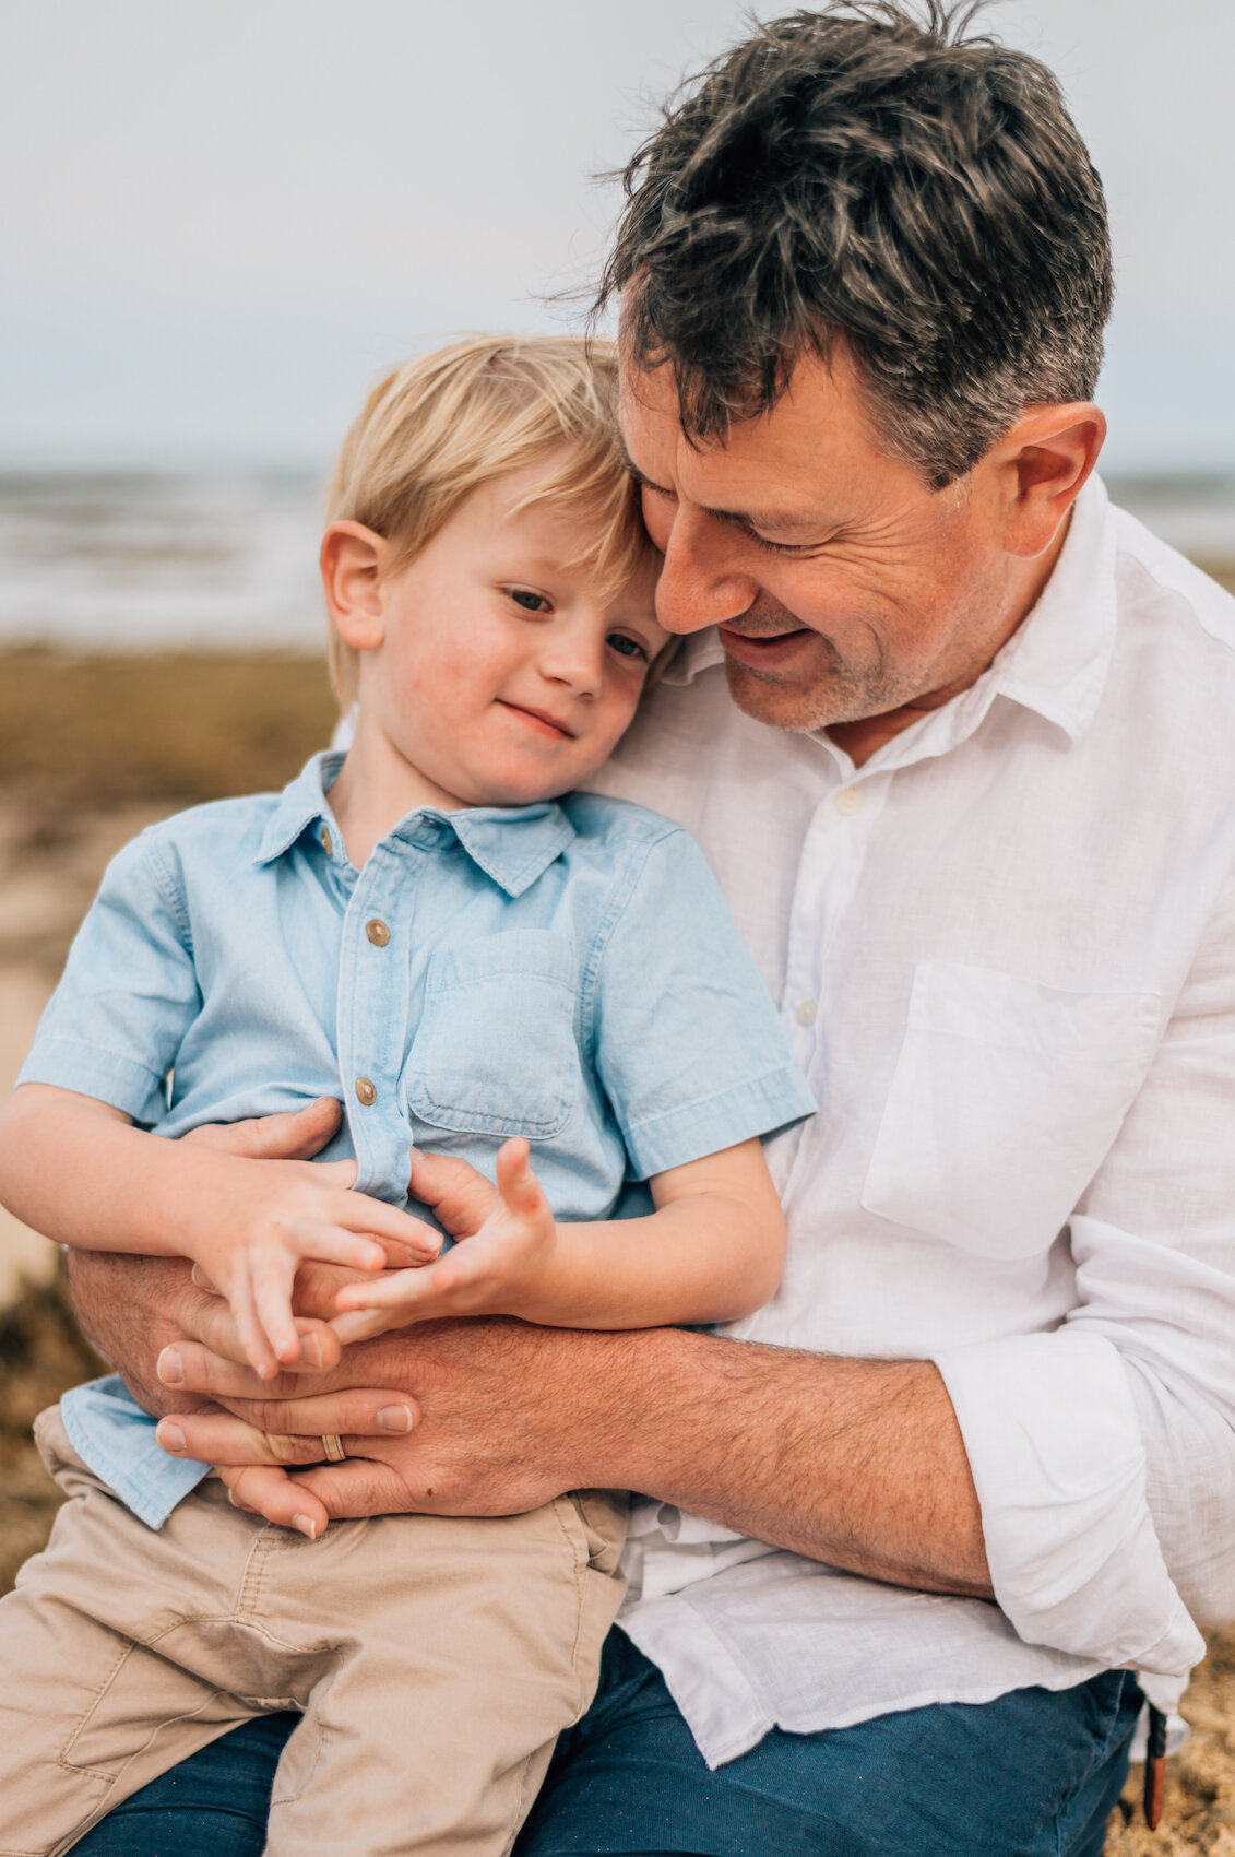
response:
[[[520,1315],[535,1304],[553,1266],[557,1226],[527,1153],[522,1138],[498,1151],[496,1205],[440,1263],[345,1285],[331,1324],[340,1339],[362,1341],[446,1315]]]

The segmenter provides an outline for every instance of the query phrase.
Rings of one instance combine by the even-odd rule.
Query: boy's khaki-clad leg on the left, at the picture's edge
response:
[[[56,1409],[37,1435],[71,1500],[46,1552],[0,1601],[4,1857],[69,1850],[123,1798],[254,1714],[251,1692],[269,1686],[267,1669],[253,1681],[253,1656],[221,1655],[260,1534],[251,1517],[210,1484],[156,1532],[85,1469]]]

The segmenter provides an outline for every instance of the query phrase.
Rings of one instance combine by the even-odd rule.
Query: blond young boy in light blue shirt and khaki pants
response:
[[[810,1114],[804,1081],[691,839],[574,791],[667,643],[613,397],[611,353],[566,338],[462,342],[371,394],[321,548],[347,756],[121,852],[0,1118],[20,1218],[195,1259],[262,1374],[299,1357],[306,1257],[371,1274],[338,1296],[349,1337],[711,1322],[776,1287],[760,1136]],[[327,1164],[160,1138],[327,1094]],[[500,1187],[444,1253],[420,1151]],[[650,1214],[613,1218],[628,1181]],[[69,1850],[282,1708],[275,1857],[509,1851],[594,1690],[613,1499],[327,1528],[267,1473],[264,1523],[117,1380],[39,1439],[74,1500],[0,1604],[2,1851]]]

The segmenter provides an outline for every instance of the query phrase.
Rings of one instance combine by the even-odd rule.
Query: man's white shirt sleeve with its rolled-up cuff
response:
[[[1170,1703],[1235,1617],[1235,882],[1072,1224],[1077,1307],[938,1356],[1021,1638]],[[1157,1692],[1157,1694],[1155,1694]]]

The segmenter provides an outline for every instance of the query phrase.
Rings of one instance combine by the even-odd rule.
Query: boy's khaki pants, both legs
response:
[[[202,1482],[154,1532],[35,1426],[69,1493],[0,1601],[0,1853],[56,1857],[195,1749],[273,1708],[267,1857],[500,1857],[592,1699],[624,1515],[381,1515],[319,1541]]]

